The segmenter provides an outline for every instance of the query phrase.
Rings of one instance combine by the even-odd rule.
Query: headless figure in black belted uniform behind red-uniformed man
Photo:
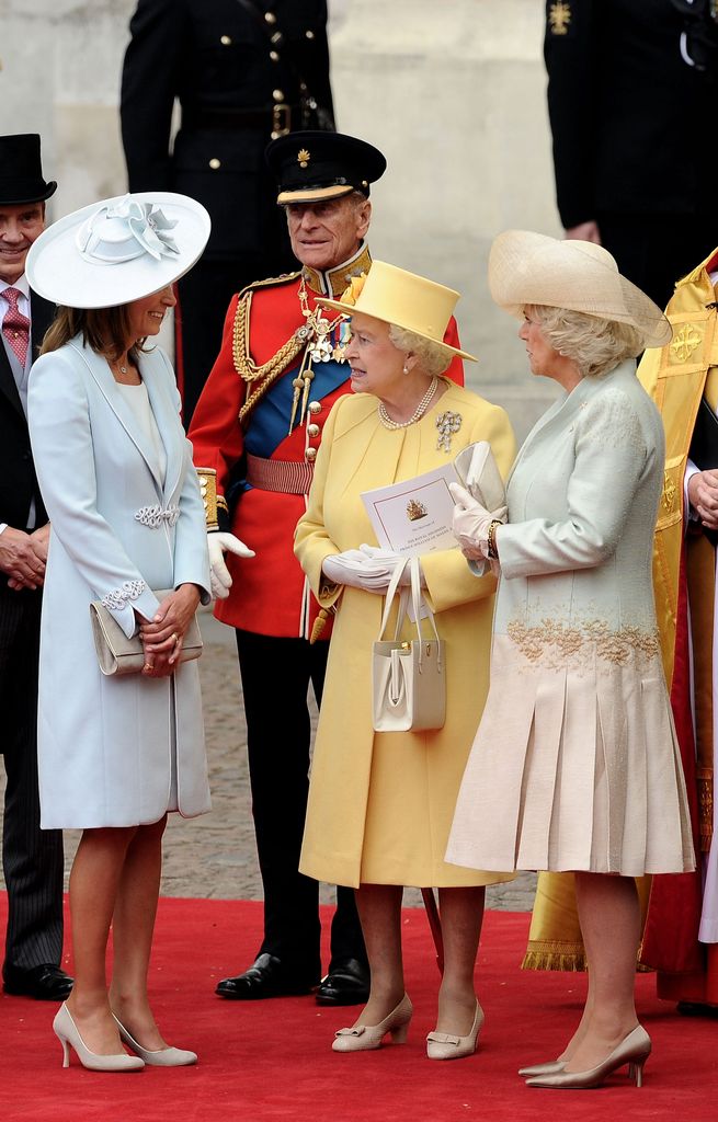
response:
[[[178,285],[188,425],[232,293],[296,268],[264,150],[273,137],[334,127],[326,0],[139,0],[130,33],[120,102],[130,191],[181,191],[212,219]]]

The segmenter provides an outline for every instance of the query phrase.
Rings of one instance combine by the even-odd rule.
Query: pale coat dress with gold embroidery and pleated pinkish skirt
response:
[[[653,601],[663,460],[634,362],[584,378],[527,436],[497,532],[489,696],[447,861],[693,867]]]

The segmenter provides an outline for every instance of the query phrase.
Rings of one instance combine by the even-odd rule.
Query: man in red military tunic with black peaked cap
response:
[[[319,631],[317,605],[292,544],[322,426],[350,388],[346,323],[319,310],[316,298],[339,297],[352,276],[369,269],[369,184],[386,167],[371,145],[320,131],[273,141],[267,159],[302,268],[233,297],[190,431],[208,513],[215,615],[237,628],[265,892],[256,962],[217,987],[236,1000],[309,992],[321,976],[317,884],[298,873],[298,857],[307,690],[311,682],[320,701],[329,628],[310,643]],[[449,341],[455,335],[452,323]],[[457,361],[450,373],[462,380]],[[316,1000],[355,1004],[368,996],[366,950],[353,891],[339,888],[337,899],[331,962]]]

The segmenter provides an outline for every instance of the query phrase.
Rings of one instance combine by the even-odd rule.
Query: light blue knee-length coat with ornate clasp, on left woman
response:
[[[158,607],[151,589],[192,582],[210,598],[204,508],[172,366],[154,349],[139,369],[165,445],[164,479],[105,359],[80,337],[42,356],[30,377],[30,439],[52,527],[38,709],[45,829],[210,809],[197,663],[171,678],[105,678],[92,637],[91,600],[131,635],[132,609],[151,619]]]

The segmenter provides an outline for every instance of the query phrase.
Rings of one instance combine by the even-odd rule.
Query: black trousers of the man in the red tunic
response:
[[[252,815],[268,951],[310,982],[321,976],[319,884],[298,872],[309,792],[310,682],[321,702],[329,643],[237,632]],[[367,960],[352,889],[337,889],[331,958]],[[331,964],[330,964],[331,965]]]

